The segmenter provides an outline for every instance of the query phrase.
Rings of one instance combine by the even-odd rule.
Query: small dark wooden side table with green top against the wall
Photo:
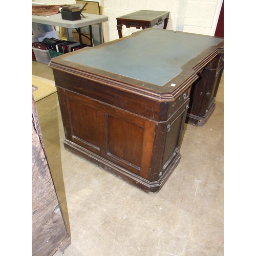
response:
[[[166,29],[169,13],[165,11],[151,11],[151,10],[140,10],[132,12],[127,15],[117,17],[117,30],[119,38],[122,38],[122,25],[126,28],[135,27],[137,29],[141,28],[152,28],[155,25],[159,25],[164,22],[163,29]]]

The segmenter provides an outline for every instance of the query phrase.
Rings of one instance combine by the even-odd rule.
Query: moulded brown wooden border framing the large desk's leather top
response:
[[[149,28],[147,30],[151,29],[154,30],[154,28]],[[104,45],[94,47],[94,49],[100,49],[102,47],[115,44],[115,42],[118,42],[120,40],[127,40],[128,38],[138,36],[144,31],[145,30],[142,30],[130,36],[107,42]],[[53,58],[50,62],[49,67],[99,83],[103,83],[106,86],[121,88],[124,91],[143,95],[144,97],[152,98],[157,101],[174,101],[181,91],[186,90],[191,85],[191,83],[193,83],[198,78],[197,73],[205,67],[206,63],[208,63],[220,52],[224,51],[223,43],[224,42],[222,40],[218,45],[208,47],[200,54],[189,60],[187,63],[185,63],[185,65],[181,67],[182,71],[178,75],[173,77],[173,79],[170,79],[166,84],[164,84],[164,86],[161,87],[153,83],[144,82],[111,72],[106,72],[89,66],[84,66],[66,59],[67,55],[73,56],[78,54],[78,52],[72,52]],[[84,48],[79,50],[79,52],[89,50],[90,48]],[[176,85],[173,87],[173,84]]]

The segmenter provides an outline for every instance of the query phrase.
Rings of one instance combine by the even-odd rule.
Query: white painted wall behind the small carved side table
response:
[[[38,3],[73,4],[75,0],[32,0]],[[167,29],[176,30],[177,25],[184,26],[189,33],[214,35],[223,0],[99,0],[103,15],[109,21],[103,23],[105,41],[118,39],[116,17],[141,9],[169,11]],[[163,27],[163,24],[156,26]],[[138,31],[136,28],[122,27],[123,36]]]

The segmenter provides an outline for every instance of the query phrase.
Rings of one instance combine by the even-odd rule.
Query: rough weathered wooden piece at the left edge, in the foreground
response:
[[[32,91],[35,87],[32,87]],[[32,255],[50,256],[71,243],[47,162],[32,94]]]

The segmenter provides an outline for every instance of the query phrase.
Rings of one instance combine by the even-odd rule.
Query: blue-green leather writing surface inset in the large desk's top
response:
[[[185,63],[223,41],[213,36],[155,28],[133,35],[63,55],[63,60],[80,64],[84,70],[95,68],[163,87],[182,71]]]

